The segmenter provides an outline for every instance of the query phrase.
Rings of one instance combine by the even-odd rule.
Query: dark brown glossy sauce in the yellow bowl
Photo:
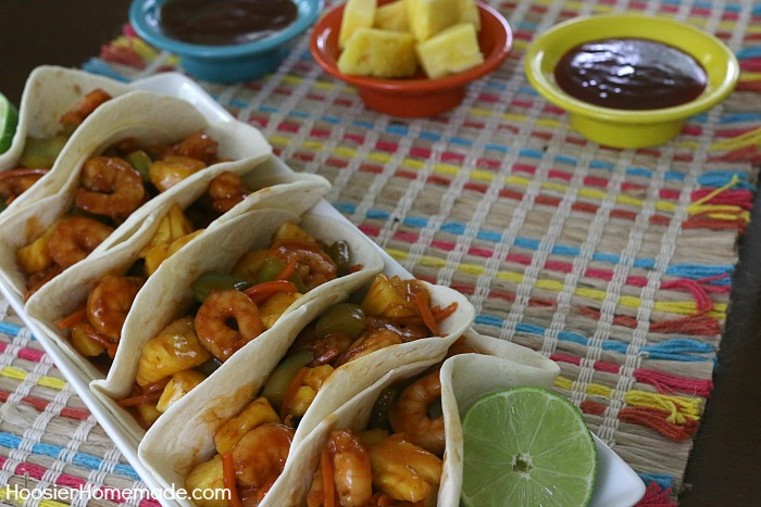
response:
[[[571,49],[554,78],[570,96],[603,107],[653,110],[696,99],[707,74],[689,54],[653,40],[603,39]]]

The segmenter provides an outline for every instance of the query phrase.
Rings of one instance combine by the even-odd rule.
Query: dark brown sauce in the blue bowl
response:
[[[159,14],[165,35],[204,46],[233,46],[264,38],[296,20],[291,0],[169,0]]]

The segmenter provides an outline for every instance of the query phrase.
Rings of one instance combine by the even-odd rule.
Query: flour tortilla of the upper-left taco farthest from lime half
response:
[[[61,116],[72,110],[80,99],[92,90],[101,89],[114,100],[132,91],[132,88],[108,77],[83,71],[42,65],[35,68],[24,85],[18,106],[18,125],[9,150],[0,154],[0,172],[17,167],[27,137],[52,138],[61,128]],[[55,191],[54,178],[42,177],[33,187],[12,202],[5,212],[35,202]]]

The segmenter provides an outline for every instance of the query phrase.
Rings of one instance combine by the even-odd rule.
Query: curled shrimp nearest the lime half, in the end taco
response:
[[[388,413],[395,433],[404,433],[413,444],[444,455],[444,417],[431,418],[428,408],[441,397],[438,368],[404,388]]]

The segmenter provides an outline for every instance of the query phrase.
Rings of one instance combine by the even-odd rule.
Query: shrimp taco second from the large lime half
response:
[[[327,308],[317,317],[312,316],[310,324],[302,324],[298,333],[280,337],[276,345],[267,351],[267,363],[258,362],[255,371],[250,366],[246,369],[242,362],[235,367],[230,364],[224,378],[210,378],[203,390],[191,392],[180,400],[165,419],[159,419],[157,426],[148,431],[138,448],[139,457],[152,468],[162,485],[184,487],[185,478],[196,465],[211,458],[212,467],[216,468],[222,455],[234,448],[238,440],[248,433],[247,430],[258,426],[258,422],[264,422],[267,428],[262,431],[273,433],[275,440],[280,439],[282,443],[287,444],[277,447],[277,454],[283,458],[289,449],[298,449],[300,442],[309,439],[311,431],[323,419],[373,385],[390,369],[440,360],[448,346],[471,325],[473,307],[462,295],[445,287],[417,280],[390,280],[392,278],[386,275],[377,275],[369,288],[354,294],[360,296],[359,306],[366,312],[366,322],[361,326],[363,330],[360,335],[344,351],[336,352],[329,345],[335,343],[334,338],[340,341],[341,335],[357,332],[355,318],[336,314],[337,309],[341,313],[346,309],[346,301]],[[403,287],[404,291],[410,287],[415,289],[412,289],[413,294],[399,294],[396,291],[399,287]],[[422,293],[419,290],[425,293],[426,312],[435,314],[442,308],[457,308],[442,316],[436,335],[432,337],[433,332],[425,332],[427,337],[416,335],[417,328],[425,326],[416,312],[414,317],[409,314],[388,316],[401,309],[397,305],[400,295],[407,300],[403,306],[411,303],[409,306],[416,308],[417,302],[411,300],[415,300],[414,294]],[[394,294],[389,295],[387,291]],[[385,316],[372,315],[376,312]],[[315,333],[316,342],[313,340]],[[410,341],[387,343],[388,333]],[[305,342],[304,337],[309,337]],[[382,340],[376,342],[380,337]],[[375,343],[366,346],[370,342]],[[311,346],[313,344],[320,346]],[[300,367],[298,362],[292,364],[292,359],[303,355],[304,350],[309,350],[307,355],[317,365]],[[334,363],[335,369],[328,367],[329,375],[325,375],[325,367],[332,363],[325,360],[327,356],[338,359]],[[240,359],[245,358],[241,356]],[[301,407],[303,410],[300,410]],[[182,444],[174,438],[167,439],[167,435],[177,435]],[[271,479],[274,481],[275,478]],[[272,484],[272,481],[267,484]]]

